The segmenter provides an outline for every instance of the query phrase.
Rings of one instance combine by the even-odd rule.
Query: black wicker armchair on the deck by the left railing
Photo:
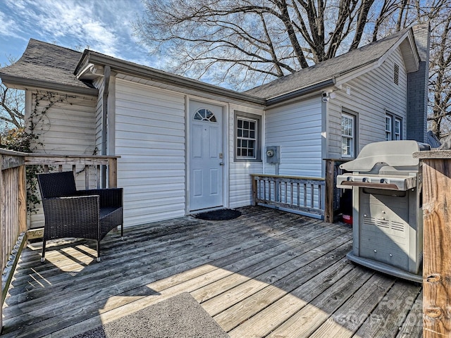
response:
[[[122,188],[77,190],[70,171],[39,174],[37,179],[45,217],[42,262],[48,239],[94,239],[100,261],[101,239],[119,225],[123,237]]]

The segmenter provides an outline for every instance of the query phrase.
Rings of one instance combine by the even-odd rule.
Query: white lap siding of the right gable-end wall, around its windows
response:
[[[394,63],[400,65],[398,84],[393,82]],[[347,94],[347,87],[350,94]],[[325,158],[341,157],[341,113],[344,109],[359,115],[356,125],[357,154],[366,144],[384,141],[385,112],[396,112],[403,121],[407,115],[407,71],[400,49],[394,51],[381,66],[342,84],[342,89],[335,89],[334,93],[335,99],[330,99],[327,104],[328,153]],[[406,132],[404,123],[400,134]]]

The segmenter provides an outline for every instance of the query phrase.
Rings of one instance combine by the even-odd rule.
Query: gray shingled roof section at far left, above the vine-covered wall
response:
[[[0,69],[1,75],[24,80],[51,82],[72,87],[93,88],[73,74],[82,53],[47,42],[30,39],[20,59]]]

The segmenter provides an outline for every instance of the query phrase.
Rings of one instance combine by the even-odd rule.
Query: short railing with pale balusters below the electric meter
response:
[[[316,177],[252,174],[254,204],[324,215],[326,180]]]

